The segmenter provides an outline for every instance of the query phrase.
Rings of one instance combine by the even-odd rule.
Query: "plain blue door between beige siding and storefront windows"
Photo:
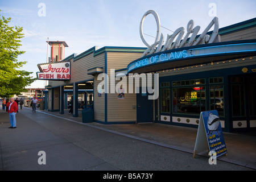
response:
[[[148,100],[148,93],[137,93],[137,123],[153,122],[153,100]]]

